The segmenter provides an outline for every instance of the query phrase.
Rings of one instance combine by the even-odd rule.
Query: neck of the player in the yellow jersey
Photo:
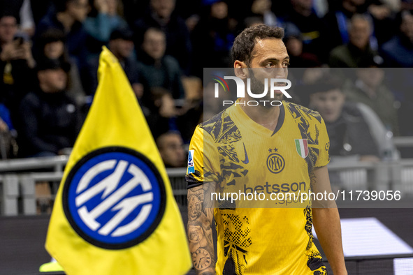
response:
[[[242,103],[248,101],[248,98],[242,98],[238,104],[241,109],[247,114],[247,116],[255,121],[257,124],[267,128],[270,131],[274,131],[277,126],[278,117],[280,117],[280,107],[275,106],[249,106]]]

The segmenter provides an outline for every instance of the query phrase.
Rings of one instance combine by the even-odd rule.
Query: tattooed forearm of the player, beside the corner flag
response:
[[[196,274],[215,274],[212,242],[213,208],[208,200],[212,184],[188,189],[188,239]],[[204,200],[205,198],[205,200]]]

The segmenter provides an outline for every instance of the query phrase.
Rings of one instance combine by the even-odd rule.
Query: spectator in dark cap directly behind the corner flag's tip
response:
[[[115,29],[110,34],[108,46],[110,52],[115,55],[124,69],[136,98],[141,98],[143,95],[143,85],[139,82],[138,62],[133,55],[132,31],[127,27]],[[95,57],[90,63],[89,74],[91,75],[92,86],[89,89],[89,94],[94,94],[98,87],[97,70],[99,67],[99,57]]]

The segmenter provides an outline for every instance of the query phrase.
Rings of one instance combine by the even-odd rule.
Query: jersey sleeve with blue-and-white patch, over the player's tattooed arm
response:
[[[210,134],[197,126],[191,138],[188,152],[188,167],[185,181],[188,188],[199,186],[204,182],[218,180],[219,158],[217,147]]]

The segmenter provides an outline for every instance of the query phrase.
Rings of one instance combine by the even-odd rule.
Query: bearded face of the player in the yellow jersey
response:
[[[281,39],[267,38],[258,40],[252,51],[252,59],[248,66],[250,69],[251,91],[254,94],[262,94],[264,81],[268,82],[268,93],[264,100],[282,101],[282,92],[275,91],[274,98],[270,97],[270,79],[287,78],[289,55],[287,48]],[[253,72],[252,72],[253,70]],[[286,83],[278,83],[277,86],[285,86]]]

